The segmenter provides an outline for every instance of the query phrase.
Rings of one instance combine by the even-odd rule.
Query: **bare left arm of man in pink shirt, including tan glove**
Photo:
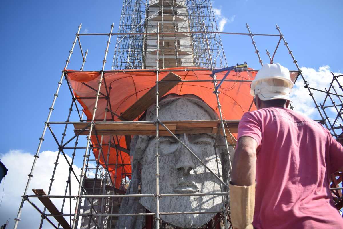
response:
[[[235,229],[253,229],[256,149],[255,139],[248,136],[238,139],[229,184],[231,220]]]

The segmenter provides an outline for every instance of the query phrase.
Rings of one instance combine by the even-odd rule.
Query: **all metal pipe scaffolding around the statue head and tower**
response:
[[[187,18],[187,20],[185,20]],[[182,23],[181,23],[182,22]],[[59,79],[57,91],[54,94],[54,100],[51,107],[49,108],[48,118],[45,122],[45,127],[43,129],[43,134],[39,138],[40,142],[36,154],[34,155],[34,162],[32,165],[31,172],[29,173],[28,182],[22,196],[22,202],[15,218],[15,226],[20,221],[20,216],[22,208],[25,202],[30,203],[41,215],[40,228],[44,228],[44,223],[51,224],[54,228],[99,228],[99,229],[112,229],[115,228],[118,217],[129,217],[129,216],[141,216],[143,217],[143,224],[145,228],[161,228],[161,229],[173,229],[176,228],[173,225],[167,224],[160,219],[162,215],[170,214],[204,214],[204,213],[216,213],[217,215],[211,219],[208,224],[203,225],[199,228],[232,228],[230,226],[230,214],[229,214],[229,204],[227,201],[228,192],[225,187],[227,187],[226,181],[223,180],[219,167],[217,166],[216,171],[212,171],[210,168],[206,167],[206,164],[192,152],[191,149],[187,146],[171,131],[166,122],[162,122],[159,117],[159,87],[163,83],[159,79],[159,74],[161,72],[172,71],[177,74],[178,71],[186,71],[187,67],[201,67],[208,70],[209,76],[212,75],[209,80],[194,80],[194,83],[203,83],[203,82],[213,82],[214,88],[218,86],[216,75],[213,73],[215,69],[227,67],[222,43],[220,40],[220,34],[223,36],[228,35],[240,35],[240,36],[250,36],[252,39],[252,44],[254,49],[252,49],[252,55],[255,52],[258,56],[258,62],[263,65],[259,51],[257,49],[256,42],[253,39],[253,36],[271,36],[275,37],[275,43],[277,43],[274,50],[274,54],[270,57],[269,52],[267,55],[270,58],[270,62],[273,62],[274,55],[277,51],[277,48],[281,41],[286,45],[289,54],[291,55],[294,64],[296,66],[295,72],[297,76],[301,76],[304,81],[305,88],[308,89],[310,96],[312,97],[315,107],[318,109],[320,115],[320,122],[331,130],[333,136],[336,138],[341,138],[342,134],[338,133],[338,129],[343,127],[340,122],[343,122],[342,119],[342,110],[343,103],[339,94],[339,91],[335,89],[334,83],[339,85],[339,88],[342,90],[342,86],[339,83],[338,79],[340,76],[333,75],[332,82],[330,87],[323,91],[319,89],[314,89],[309,87],[307,81],[302,75],[297,61],[295,60],[292,51],[289,49],[287,42],[282,35],[280,28],[276,25],[277,31],[279,34],[252,34],[248,25],[248,33],[223,33],[218,32],[216,22],[213,15],[213,10],[211,7],[210,0],[124,0],[121,20],[119,24],[119,31],[117,34],[112,33],[114,24],[110,26],[109,33],[104,34],[80,34],[81,25],[78,28],[75,39],[72,42],[72,48],[69,52],[68,59],[66,60],[66,65],[64,69],[67,69],[68,64],[71,60],[71,55],[74,50],[76,42],[79,42],[81,49],[81,71],[68,71],[63,70],[62,76]],[[88,54],[88,49],[83,54],[80,39],[87,38],[85,35],[102,35],[108,36],[106,42],[105,56],[102,59],[102,68],[100,71],[100,77],[98,79],[98,88],[91,88],[94,90],[94,96],[87,98],[76,98],[73,88],[70,85],[70,82],[67,78],[67,75],[71,72],[86,72],[83,71],[85,67],[85,59]],[[112,36],[117,36],[116,45],[115,45],[115,54],[113,65],[111,70],[106,70],[106,59],[110,46],[110,40]],[[154,45],[152,45],[154,44]],[[77,61],[75,61],[77,62]],[[101,62],[101,60],[99,60]],[[154,63],[154,66],[153,66]],[[182,69],[173,69],[168,70],[166,68],[175,68],[182,67]],[[150,70],[149,70],[150,69]],[[192,69],[197,71],[197,69]],[[198,69],[204,70],[204,69]],[[126,123],[132,124],[137,122],[132,121],[123,121],[117,122],[115,118],[121,114],[116,114],[111,109],[110,100],[115,100],[116,98],[111,98],[111,87],[106,82],[105,75],[108,73],[116,72],[129,72],[129,71],[141,71],[141,72],[155,72],[156,78],[156,96],[155,106],[156,106],[156,117],[155,122],[139,122],[144,124],[151,124],[156,126],[156,153],[155,153],[155,163],[156,163],[156,174],[153,174],[156,179],[156,189],[154,193],[150,194],[128,194],[125,195],[127,189],[128,176],[131,175],[129,171],[125,171],[125,164],[123,161],[122,154],[120,152],[129,153],[130,149],[126,146],[119,144],[120,135],[105,135],[105,134],[96,134],[94,139],[94,132],[99,131],[95,128],[95,125],[98,124],[118,124]],[[256,70],[255,70],[256,71]],[[298,77],[296,77],[298,78]],[[65,80],[67,87],[72,95],[71,104],[67,107],[68,112],[67,121],[58,121],[51,122],[50,117],[54,111],[54,105],[58,97],[62,81]],[[230,80],[228,80],[230,81]],[[231,80],[236,83],[250,83],[249,80]],[[170,81],[171,82],[171,81]],[[189,82],[189,81],[178,81],[178,82]],[[178,83],[177,82],[177,83]],[[84,83],[87,86],[87,83]],[[90,87],[89,85],[87,87]],[[100,89],[106,88],[105,93]],[[317,105],[316,100],[313,96],[313,90],[326,93],[326,98],[323,103],[320,103],[320,106]],[[220,129],[222,131],[222,136],[224,137],[224,145],[226,149],[226,156],[228,157],[228,162],[230,163],[230,150],[229,147],[235,146],[235,140],[230,139],[232,137],[231,133],[226,133],[225,131],[230,130],[229,122],[224,120],[222,116],[221,107],[223,104],[220,104],[218,97],[219,93],[214,93],[216,96],[217,107],[219,110],[220,119],[217,120],[218,123],[218,132]],[[336,98],[333,98],[336,96]],[[89,99],[94,100],[94,108],[92,113],[92,118],[87,119],[83,118],[84,114],[80,109],[80,103],[78,99]],[[106,99],[106,111],[104,119],[96,119],[97,104],[101,99]],[[327,105],[328,102],[331,102],[332,105]],[[251,102],[252,103],[252,102]],[[251,106],[250,106],[251,108]],[[326,108],[334,108],[337,112],[335,117],[331,118],[325,110]],[[72,112],[72,111],[76,112]],[[250,110],[250,109],[249,109]],[[324,114],[324,115],[323,115]],[[329,117],[330,116],[330,117]],[[325,117],[325,118],[324,118]],[[61,118],[61,117],[59,117]],[[156,125],[159,123],[160,125]],[[238,121],[236,122],[236,124]],[[63,126],[61,133],[62,138],[58,139],[58,135],[53,131],[55,126]],[[81,125],[79,129],[75,128],[75,125]],[[238,124],[237,124],[238,125]],[[56,141],[56,148],[58,149],[58,154],[56,162],[54,165],[54,170],[52,171],[52,176],[49,185],[49,190],[45,193],[43,190],[34,190],[35,195],[28,194],[28,188],[31,179],[33,178],[33,172],[35,169],[36,161],[39,158],[40,148],[43,144],[44,137],[48,133]],[[70,131],[69,131],[70,130]],[[159,133],[161,131],[168,131],[171,136],[173,136],[181,145],[187,148],[189,153],[195,157],[199,163],[204,165],[204,167],[213,174],[213,179],[218,179],[221,187],[221,192],[217,193],[194,193],[194,194],[171,194],[171,193],[160,193],[160,181],[159,181]],[[69,132],[68,132],[69,131]],[[86,132],[86,134],[85,134]],[[66,139],[66,133],[73,133],[73,136],[69,139]],[[86,141],[83,141],[80,136],[86,135]],[[134,134],[130,134],[134,135]],[[93,137],[93,139],[91,138]],[[100,138],[98,136],[101,136]],[[107,137],[106,137],[107,136]],[[216,135],[215,142],[213,146],[215,150],[218,147],[218,138],[220,134]],[[74,141],[74,142],[73,142]],[[84,144],[80,146],[79,141]],[[229,141],[229,142],[228,142]],[[94,143],[96,142],[96,143]],[[104,147],[108,147],[108,151],[103,151]],[[116,164],[109,163],[110,157],[110,148],[114,148],[116,151]],[[97,154],[92,153],[92,151],[97,150]],[[68,160],[66,155],[71,155],[72,159]],[[79,157],[78,157],[79,155]],[[81,155],[81,156],[80,156]],[[94,155],[94,157],[93,157]],[[217,155],[216,155],[217,156]],[[93,158],[93,159],[91,159]],[[54,178],[56,177],[56,168],[61,160],[66,160],[69,165],[68,177],[66,178],[66,187],[64,193],[58,195],[52,195],[51,190],[54,185]],[[75,161],[78,160],[82,163],[81,174],[77,174],[73,170],[73,165]],[[113,166],[115,169],[110,169]],[[122,184],[120,188],[116,188],[114,181],[117,179],[117,169],[121,168],[121,181]],[[231,166],[230,166],[231,169]],[[115,174],[115,175],[113,175]],[[114,178],[114,179],[113,179]],[[71,183],[76,183],[78,186],[77,192],[73,191],[71,188]],[[337,173],[332,175],[332,185],[331,190],[334,195],[335,203],[338,209],[343,207],[343,197],[342,197],[342,174]],[[217,195],[222,197],[222,209],[216,212],[161,212],[159,210],[159,199],[166,196],[204,196],[204,195]],[[119,213],[119,207],[123,197],[134,198],[134,197],[150,197],[152,201],[155,201],[156,212],[146,211],[135,212],[135,213]],[[38,200],[43,203],[44,207],[41,208],[37,204]],[[59,199],[62,199],[61,208],[57,208],[54,203],[58,202]],[[26,204],[27,205],[27,204]],[[49,211],[50,214],[47,213]]]

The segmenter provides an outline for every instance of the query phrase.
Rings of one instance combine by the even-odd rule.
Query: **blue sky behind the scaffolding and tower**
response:
[[[327,87],[326,82],[331,80],[330,71],[343,72],[342,1],[215,0],[212,5],[216,9],[217,22],[222,26],[223,32],[247,33],[245,23],[248,23],[252,33],[277,34],[277,24],[310,85],[324,89]],[[10,170],[6,176],[4,200],[0,206],[0,225],[11,217],[10,227],[13,227],[13,218],[33,162],[33,156],[27,159],[26,156],[35,154],[37,150],[38,139],[42,135],[57,82],[78,26],[82,23],[81,33],[109,33],[110,25],[114,23],[113,31],[116,33],[121,8],[121,0],[1,1],[0,65],[3,69],[3,83],[0,93],[3,103],[0,109],[3,131],[0,159],[3,163],[7,162],[5,165]],[[221,38],[228,65],[246,61],[249,67],[260,68],[250,37],[222,35]],[[272,52],[278,38],[254,36],[254,39],[263,62],[268,63],[265,49]],[[115,37],[111,40],[105,69],[111,68],[115,40]],[[101,69],[106,41],[107,36],[87,39],[82,37],[84,51],[88,47],[93,48],[89,50],[87,61],[90,64],[87,65],[86,62],[85,70]],[[76,46],[74,56],[80,56],[78,49]],[[82,62],[79,61],[79,56],[73,58],[73,55],[68,68],[78,70]],[[296,70],[283,43],[280,44],[274,60],[289,70]],[[295,110],[307,112],[316,119],[318,115],[314,111],[314,105],[308,92],[301,91],[302,85],[299,81],[295,87],[296,90],[299,89],[295,93]],[[70,97],[65,83],[52,113],[52,121],[66,120]],[[318,94],[318,98],[321,99],[322,96]],[[50,136],[48,133],[47,135]],[[46,136],[41,151],[56,151],[53,139],[49,136]],[[21,165],[20,171],[15,162],[10,160],[13,158],[17,158],[18,163],[25,158],[26,163]],[[80,163],[76,165],[81,166]],[[0,194],[3,183],[0,184]],[[13,190],[19,191],[14,195]],[[30,206],[24,208],[33,211]],[[24,211],[22,217],[27,219],[30,214]],[[34,222],[29,221],[27,225],[32,224]],[[23,221],[19,225],[23,228]]]

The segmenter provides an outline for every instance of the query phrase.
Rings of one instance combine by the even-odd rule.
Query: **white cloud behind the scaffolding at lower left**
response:
[[[54,162],[56,161],[57,152],[44,151],[39,154],[37,163],[33,172],[33,178],[29,185],[28,195],[34,195],[32,189],[44,189],[47,193],[50,185],[50,178],[54,169]],[[0,196],[4,187],[3,199],[0,206],[0,225],[4,224],[6,220],[10,219],[9,228],[14,226],[14,218],[16,218],[19,206],[21,203],[21,195],[24,194],[25,186],[28,180],[27,174],[31,171],[33,155],[22,150],[10,150],[5,154],[0,154],[1,162],[8,169],[7,175],[0,184]],[[69,161],[71,158],[67,156]],[[59,164],[57,165],[55,181],[53,182],[51,195],[58,194],[63,195],[66,189],[66,181],[69,174],[69,165],[62,155],[60,155]],[[81,169],[73,166],[73,170],[76,175],[81,174]],[[78,192],[79,184],[75,178],[72,178],[71,182],[72,195],[76,195]],[[29,198],[35,205],[41,210],[44,209],[43,205],[37,198]],[[61,209],[62,198],[51,198],[51,201],[56,205],[58,209]],[[69,202],[69,200],[68,200]],[[69,204],[66,202],[63,212],[69,214]],[[75,202],[72,200],[72,212],[75,210]],[[49,212],[47,211],[47,214]],[[21,221],[18,224],[18,228],[36,229],[40,224],[40,213],[31,206],[27,201],[24,202],[22,214],[20,216]],[[54,218],[50,218],[51,221],[56,222]],[[67,219],[69,222],[69,219]],[[57,224],[56,224],[57,225]],[[53,228],[46,220],[44,220],[43,228]]]

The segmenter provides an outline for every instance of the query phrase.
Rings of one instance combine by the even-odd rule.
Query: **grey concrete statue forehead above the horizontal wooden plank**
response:
[[[162,121],[181,121],[181,120],[209,120],[215,114],[210,109],[200,106],[201,101],[179,98],[176,100],[162,101],[159,105],[159,119]],[[206,106],[206,104],[205,104]],[[211,117],[212,116],[212,117]],[[147,115],[146,121],[153,121],[156,118],[156,111],[152,110]]]

